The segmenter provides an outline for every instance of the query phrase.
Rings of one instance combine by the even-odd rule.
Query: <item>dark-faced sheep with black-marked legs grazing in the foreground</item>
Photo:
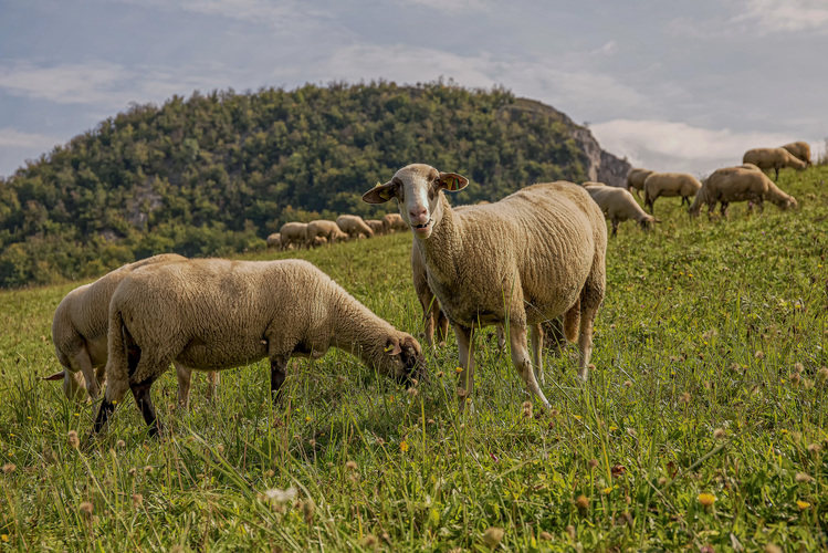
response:
[[[401,384],[426,375],[420,344],[410,334],[302,260],[196,259],[145,267],[113,294],[108,338],[96,435],[127,390],[149,434],[163,431],[149,390],[172,361],[198,371],[223,371],[268,357],[274,403],[289,359],[318,358],[329,347],[358,356]]]

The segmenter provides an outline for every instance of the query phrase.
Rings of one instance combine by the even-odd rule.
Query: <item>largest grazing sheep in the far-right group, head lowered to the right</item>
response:
[[[717,201],[722,204],[722,216],[727,215],[727,207],[733,201],[753,201],[764,211],[765,200],[776,204],[783,210],[798,206],[796,198],[779,190],[763,171],[724,167],[708,177],[688,212],[691,217],[696,217],[702,206],[708,204],[708,213],[712,216]]]

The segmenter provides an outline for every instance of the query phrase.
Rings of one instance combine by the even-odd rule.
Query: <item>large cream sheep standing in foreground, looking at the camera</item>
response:
[[[461,190],[468,184],[455,173],[413,164],[365,192],[363,201],[397,198],[422,255],[429,288],[454,328],[463,368],[462,404],[473,392],[470,348],[475,327],[507,324],[512,363],[528,390],[548,407],[538,386],[541,323],[564,314],[566,337],[578,337],[578,375],[586,379],[593,323],[606,288],[604,215],[586,190],[565,181],[530,186],[488,206],[452,210],[443,190]],[[533,328],[532,361],[527,326]]]

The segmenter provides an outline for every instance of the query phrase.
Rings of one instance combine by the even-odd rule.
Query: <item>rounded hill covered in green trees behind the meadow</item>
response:
[[[502,88],[174,96],[135,105],[0,180],[0,286],[97,275],[167,251],[228,254],[263,246],[287,220],[380,215],[360,194],[410,163],[470,177],[455,204],[541,180],[614,181],[629,167],[566,115]]]

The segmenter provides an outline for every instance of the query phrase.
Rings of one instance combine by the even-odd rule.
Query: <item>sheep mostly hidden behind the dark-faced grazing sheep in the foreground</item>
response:
[[[147,265],[186,261],[187,258],[175,253],[155,255],[116,269],[91,284],[76,288],[61,301],[52,321],[52,341],[57,361],[63,371],[45,377],[46,380],[63,380],[63,393],[69,398],[82,394],[75,375],[80,371],[86,385],[90,398],[97,399],[101,383],[104,379],[104,367],[107,359],[106,333],[108,327],[109,299],[118,284],[133,271]],[[190,378],[192,372],[176,365],[178,374],[178,403],[187,408],[190,397]],[[208,375],[209,396],[216,394],[218,384],[216,373]]]

